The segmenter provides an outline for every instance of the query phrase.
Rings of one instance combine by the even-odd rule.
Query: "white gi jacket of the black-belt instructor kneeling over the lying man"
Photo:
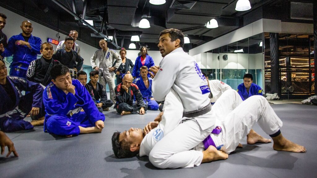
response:
[[[207,80],[197,62],[185,53],[183,48],[177,48],[167,54],[159,67],[152,82],[155,100],[165,100],[166,94],[173,87],[182,101],[184,112],[196,111],[210,104]],[[215,120],[210,117],[202,115],[195,118],[202,130],[214,125]]]

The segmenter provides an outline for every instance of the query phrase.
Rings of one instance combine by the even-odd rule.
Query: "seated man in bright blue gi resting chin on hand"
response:
[[[68,67],[52,68],[52,82],[44,89],[44,131],[72,137],[80,133],[101,132],[105,116],[100,113],[89,92],[77,79],[72,80]],[[81,112],[81,109],[84,112]]]

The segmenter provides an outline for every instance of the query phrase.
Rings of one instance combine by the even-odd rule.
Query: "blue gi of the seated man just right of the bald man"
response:
[[[155,100],[151,100],[153,98],[152,95],[152,78],[148,77],[149,80],[149,87],[146,88],[142,77],[138,77],[134,79],[133,83],[139,87],[139,90],[142,94],[142,98],[144,103],[147,105],[147,109],[149,110],[158,110],[159,104]]]

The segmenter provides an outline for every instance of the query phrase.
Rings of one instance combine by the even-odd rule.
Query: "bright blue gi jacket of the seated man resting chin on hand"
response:
[[[46,111],[45,120],[55,114],[69,115],[68,112],[70,110],[79,107],[84,109],[86,116],[92,123],[101,120],[100,112],[86,88],[77,79],[72,80],[72,84],[75,86],[75,95],[70,92],[66,94],[57,88],[53,82],[46,86],[43,92],[43,102]]]

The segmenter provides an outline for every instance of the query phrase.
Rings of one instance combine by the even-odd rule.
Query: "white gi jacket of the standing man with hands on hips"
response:
[[[116,65],[114,67],[118,69],[122,63],[122,59],[114,49],[110,48],[107,49],[106,55],[103,54],[102,49],[98,49],[90,59],[91,67],[103,68],[103,75],[114,75],[113,72],[109,73],[108,69],[112,67],[114,61],[116,61]]]

